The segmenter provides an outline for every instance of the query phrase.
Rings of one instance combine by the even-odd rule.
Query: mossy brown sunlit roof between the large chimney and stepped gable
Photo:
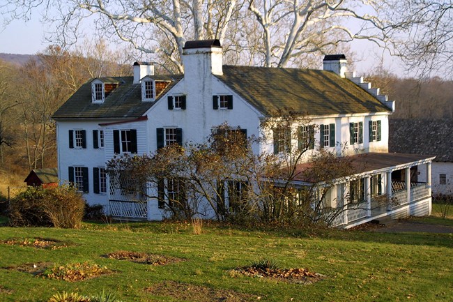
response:
[[[350,80],[326,70],[223,66],[217,75],[265,115],[291,108],[310,115],[390,112]]]

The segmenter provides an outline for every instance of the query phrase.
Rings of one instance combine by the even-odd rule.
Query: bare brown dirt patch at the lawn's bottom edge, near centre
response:
[[[160,282],[145,289],[155,296],[170,296],[178,301],[194,302],[247,302],[261,299],[259,296],[243,294],[227,289],[213,289],[175,281]]]

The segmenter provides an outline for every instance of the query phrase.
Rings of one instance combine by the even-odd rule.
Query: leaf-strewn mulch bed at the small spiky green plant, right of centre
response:
[[[309,285],[325,276],[320,273],[313,273],[306,269],[261,269],[254,266],[244,266],[233,270],[234,273],[240,273],[247,277],[254,278],[271,278],[284,282],[300,283]]]

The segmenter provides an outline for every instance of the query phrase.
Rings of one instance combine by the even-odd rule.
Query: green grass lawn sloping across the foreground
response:
[[[203,234],[194,235],[192,225],[182,222],[85,223],[79,230],[0,227],[0,241],[36,237],[67,246],[0,244],[0,301],[47,301],[56,292],[102,290],[123,301],[453,301],[452,234],[307,234],[204,225]],[[185,261],[153,266],[105,257],[119,250]],[[231,271],[262,257],[324,278],[300,284]],[[113,273],[68,282],[17,270],[22,264],[86,261]]]

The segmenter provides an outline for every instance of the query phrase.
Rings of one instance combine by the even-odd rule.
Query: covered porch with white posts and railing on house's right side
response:
[[[327,201],[331,225],[347,229],[385,217],[430,215],[433,158],[399,153],[353,156],[357,174],[337,183]],[[426,165],[427,183],[417,181],[421,165]]]

